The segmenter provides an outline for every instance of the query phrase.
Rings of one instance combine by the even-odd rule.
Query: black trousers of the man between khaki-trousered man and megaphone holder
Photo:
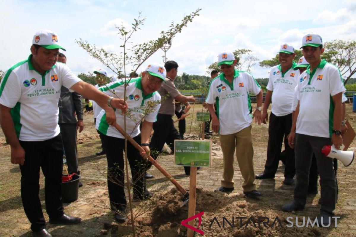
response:
[[[264,173],[274,176],[276,174],[279,157],[281,155],[282,142],[284,136],[284,148],[286,152],[285,178],[293,178],[295,175],[294,149],[288,145],[287,136],[292,127],[292,114],[276,116],[271,112],[268,126],[267,160]]]

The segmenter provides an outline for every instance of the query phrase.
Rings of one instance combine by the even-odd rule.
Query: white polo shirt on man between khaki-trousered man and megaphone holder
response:
[[[294,89],[299,79],[299,70],[294,71],[295,63],[286,72],[281,65],[274,66],[269,74],[267,90],[272,91],[272,113],[276,116],[291,114]]]

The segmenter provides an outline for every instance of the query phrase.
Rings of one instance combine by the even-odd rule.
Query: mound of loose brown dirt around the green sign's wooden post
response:
[[[136,222],[138,236],[141,236],[140,233],[156,236],[158,230],[177,225],[180,226],[180,235],[186,236],[187,228],[180,225],[188,218],[188,205],[180,208],[182,194],[173,188],[158,199],[152,212]],[[227,195],[198,188],[196,213],[201,211],[204,215],[199,229],[205,232],[205,236],[320,236],[317,228],[286,227],[289,224],[286,222],[288,214],[261,210],[257,203],[250,203],[242,194]],[[269,221],[262,217],[268,217]],[[195,227],[197,223],[198,219],[195,220]]]

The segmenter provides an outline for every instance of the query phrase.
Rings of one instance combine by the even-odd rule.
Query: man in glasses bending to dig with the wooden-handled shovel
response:
[[[152,196],[146,190],[145,167],[146,161],[141,157],[150,154],[149,140],[152,131],[152,124],[156,121],[159,107],[161,106],[161,96],[158,90],[161,87],[166,70],[163,66],[148,65],[142,72],[142,77],[131,79],[126,86],[126,97],[128,103],[128,113],[126,117],[126,133],[131,136],[146,151],[143,154],[127,142],[127,159],[129,160],[132,183],[133,198],[137,200],[148,199]],[[114,81],[102,86],[99,90],[114,97],[124,97],[125,82]],[[124,115],[116,110],[116,123],[124,128]],[[111,209],[116,212],[115,219],[118,222],[125,222],[126,196],[124,191],[124,149],[125,137],[114,126],[109,126],[105,120],[106,111],[102,110],[96,122],[96,129],[99,131],[103,141],[106,158],[108,160],[108,190]],[[142,129],[140,131],[140,123]]]

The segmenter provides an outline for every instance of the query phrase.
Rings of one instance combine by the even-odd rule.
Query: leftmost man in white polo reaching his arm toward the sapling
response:
[[[40,168],[45,176],[49,222],[68,225],[81,221],[64,214],[61,198],[63,145],[58,101],[62,85],[100,103],[110,124],[116,120],[112,107],[127,109],[123,99],[105,95],[80,80],[66,64],[57,63],[59,49],[63,48],[53,31],[36,32],[31,55],[7,70],[0,85],[0,124],[11,146],[11,163],[20,165],[23,209],[35,236],[52,236],[45,229],[38,196]]]

